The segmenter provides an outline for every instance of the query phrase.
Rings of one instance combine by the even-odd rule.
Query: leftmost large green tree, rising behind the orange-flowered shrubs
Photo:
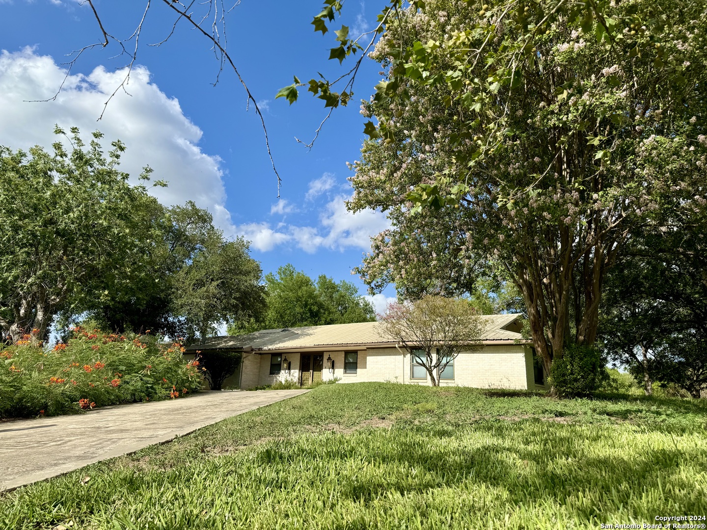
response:
[[[57,312],[100,300],[107,276],[124,285],[147,252],[141,213],[158,204],[119,171],[123,144],[106,156],[101,137],[86,146],[71,129],[71,149],[52,154],[0,147],[0,327],[13,341],[46,338]]]

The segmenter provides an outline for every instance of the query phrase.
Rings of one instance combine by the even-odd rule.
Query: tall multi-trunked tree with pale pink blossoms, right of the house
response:
[[[560,7],[399,11],[349,203],[392,220],[358,269],[374,289],[456,295],[501,270],[547,372],[595,342],[626,241],[665,209],[703,215],[707,185],[704,4]]]

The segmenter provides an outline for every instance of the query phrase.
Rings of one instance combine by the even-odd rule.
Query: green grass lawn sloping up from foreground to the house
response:
[[[324,385],[8,493],[0,528],[585,529],[707,515],[706,401]]]

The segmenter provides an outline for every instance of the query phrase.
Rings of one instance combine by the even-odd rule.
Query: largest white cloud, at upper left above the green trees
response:
[[[54,124],[67,130],[78,126],[86,136],[98,129],[105,134],[106,144],[114,139],[126,144],[122,170],[137,177],[141,167],[150,165],[154,179],[168,180],[167,188],[152,190],[160,202],[171,205],[193,200],[211,211],[226,235],[237,233],[225,206],[221,159],[201,151],[201,129],[185,117],[175,98],[150,82],[146,68],[134,69],[127,85],[130,95],[119,90],[100,122],[96,119],[103,104],[124,72],[98,66],[88,75],[71,74],[55,101],[28,102],[52,98],[65,75],[66,70],[52,57],[37,55],[33,49],[0,53],[1,145],[49,148],[57,141],[52,134]]]

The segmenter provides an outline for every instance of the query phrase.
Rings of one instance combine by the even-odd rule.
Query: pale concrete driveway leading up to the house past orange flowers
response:
[[[185,399],[0,423],[0,490],[166,442],[306,390],[203,392]]]

